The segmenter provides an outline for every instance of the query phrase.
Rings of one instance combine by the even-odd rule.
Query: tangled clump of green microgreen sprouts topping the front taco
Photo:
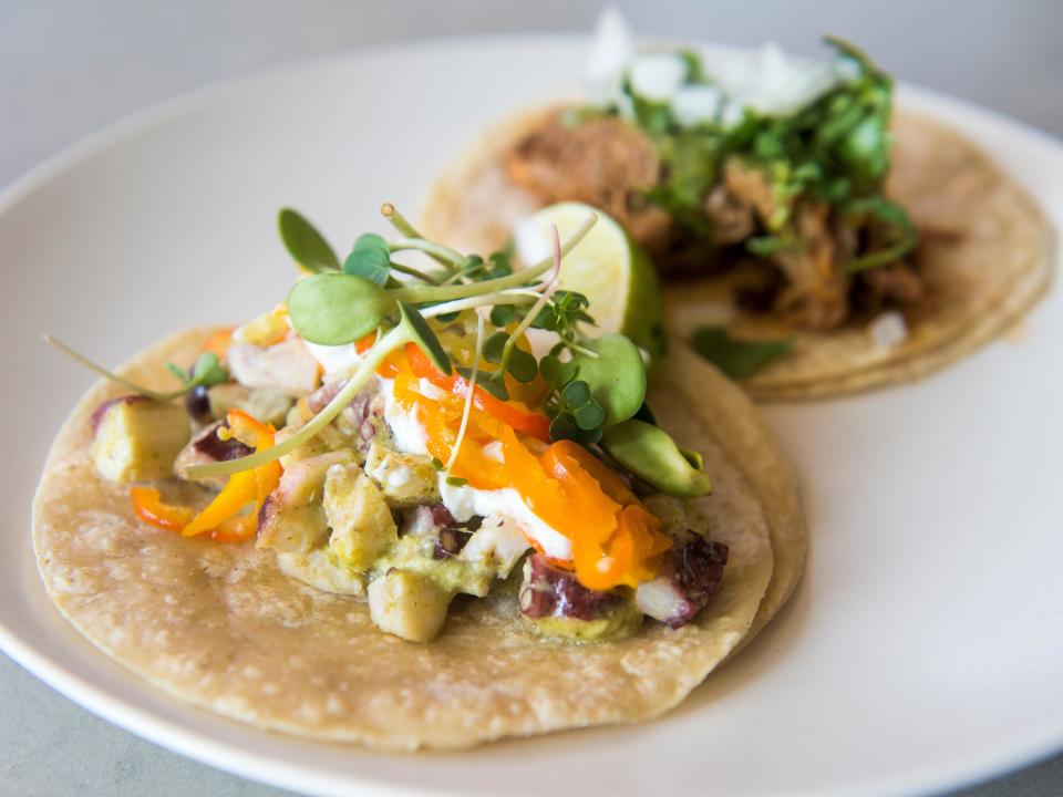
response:
[[[292,214],[295,211],[291,211]],[[296,331],[312,343],[349,344],[376,333],[373,345],[337,396],[305,426],[272,448],[247,457],[202,465],[189,469],[193,478],[217,477],[258,467],[283,456],[323,429],[372,377],[389,354],[414,343],[443,373],[453,372],[447,353],[436,338],[434,323],[454,323],[462,312],[476,312],[476,342],[472,368],[458,368],[464,377],[465,406],[455,445],[448,460],[435,467],[456,484],[451,469],[468,427],[474,394],[484,390],[508,400],[506,376],[530,383],[540,373],[548,392],[544,410],[551,417],[555,438],[596,442],[606,425],[619,423],[638,412],[646,392],[646,370],[637,346],[619,334],[594,340],[580,325],[592,323],[582,294],[561,290],[565,255],[597,220],[594,214],[565,241],[553,230],[550,256],[526,269],[514,271],[506,252],[484,259],[463,255],[429,241],[417,234],[394,208],[384,205],[383,215],[403,234],[388,241],[381,236],[360,236],[341,269],[320,269],[299,280],[288,294],[288,314]],[[309,222],[298,217],[309,227]],[[306,235],[303,237],[311,239]],[[287,245],[287,244],[286,244]],[[419,250],[443,263],[450,275],[437,279],[415,269],[403,272],[409,280],[391,277],[396,251]],[[489,313],[486,308],[491,308]],[[486,329],[487,318],[495,327]],[[530,328],[554,332],[558,343],[540,366],[522,340]],[[609,358],[609,363],[598,363]],[[484,363],[496,363],[493,372]]]

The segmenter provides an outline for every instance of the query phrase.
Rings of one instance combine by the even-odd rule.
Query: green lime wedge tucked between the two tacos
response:
[[[596,327],[589,333],[621,332],[657,360],[664,353],[664,306],[657,269],[612,218],[582,203],[550,205],[520,222],[518,251],[525,262],[545,257],[550,225],[565,240],[592,213],[598,222],[561,263],[561,288],[590,300]]]

